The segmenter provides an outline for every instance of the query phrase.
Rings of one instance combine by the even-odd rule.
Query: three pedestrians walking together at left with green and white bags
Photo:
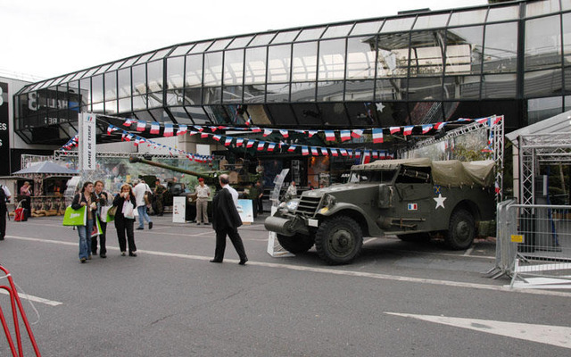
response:
[[[108,192],[103,190],[103,181],[91,181],[83,184],[77,195],[73,197],[71,208],[79,210],[87,206],[86,224],[78,226],[79,235],[79,262],[85,263],[97,253],[97,237],[99,237],[99,256],[107,257],[106,248],[106,217],[102,217],[103,207],[116,207],[114,222],[119,240],[120,253],[122,256],[137,256],[137,245],[135,245],[135,234],[133,231],[135,224],[135,209],[137,200],[129,184],[121,186],[120,193],[112,198]],[[99,220],[101,233],[92,237],[96,220]]]

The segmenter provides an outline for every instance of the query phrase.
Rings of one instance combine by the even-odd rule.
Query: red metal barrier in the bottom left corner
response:
[[[10,350],[12,351],[12,356],[13,357],[18,357],[18,356],[23,357],[24,356],[23,346],[21,345],[21,334],[20,334],[20,325],[19,325],[19,319],[18,319],[18,311],[20,311],[21,320],[24,322],[24,325],[26,325],[26,331],[28,331],[29,340],[32,343],[32,346],[34,347],[34,352],[36,353],[37,356],[40,356],[41,354],[39,353],[39,350],[37,349],[36,339],[34,338],[34,334],[32,333],[32,329],[29,327],[28,318],[26,317],[26,311],[24,311],[24,308],[21,305],[20,296],[18,296],[18,291],[16,291],[16,286],[14,285],[14,282],[12,281],[12,276],[10,274],[10,271],[6,270],[2,265],[0,265],[0,270],[2,270],[5,274],[4,277],[0,277],[0,278],[7,278],[8,282],[10,283],[10,286],[0,285],[0,288],[6,290],[8,292],[8,295],[10,295],[10,303],[12,304],[12,319],[14,321],[13,327],[14,327],[14,330],[16,332],[16,341],[18,343],[18,353],[16,353],[16,346],[14,345],[14,342],[12,340],[12,334],[10,333],[10,329],[8,328],[8,325],[6,324],[6,320],[4,319],[4,311],[2,311],[1,306],[0,306],[0,321],[2,321],[2,327],[4,328],[4,333],[6,334],[6,339],[8,340],[8,345],[10,345]]]

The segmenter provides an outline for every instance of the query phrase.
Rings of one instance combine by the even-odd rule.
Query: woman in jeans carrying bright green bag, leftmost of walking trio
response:
[[[91,231],[93,230],[93,224],[95,220],[95,210],[97,209],[97,203],[95,203],[96,197],[93,193],[93,182],[87,181],[83,184],[79,194],[73,197],[71,202],[71,208],[74,210],[79,210],[87,206],[87,220],[85,226],[77,226],[79,234],[79,262],[87,262],[87,259],[91,259]]]

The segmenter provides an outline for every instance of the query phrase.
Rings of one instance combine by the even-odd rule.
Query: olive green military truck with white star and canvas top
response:
[[[280,203],[264,225],[289,252],[315,244],[330,264],[352,262],[363,237],[424,240],[442,233],[451,249],[466,249],[479,223],[494,218],[493,166],[424,158],[354,165],[347,183]]]

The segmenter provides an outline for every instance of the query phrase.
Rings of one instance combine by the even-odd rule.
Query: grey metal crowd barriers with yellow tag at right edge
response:
[[[497,273],[510,286],[571,287],[571,206],[498,203]]]

